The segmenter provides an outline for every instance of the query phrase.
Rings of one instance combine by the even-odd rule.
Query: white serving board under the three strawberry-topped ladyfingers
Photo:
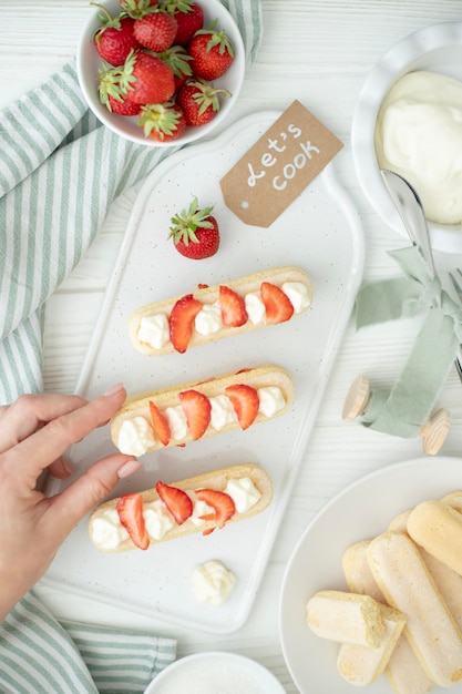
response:
[[[92,398],[123,380],[129,395],[263,364],[287,368],[297,399],[285,416],[247,431],[235,430],[143,457],[143,470],[121,481],[113,496],[158,479],[183,478],[240,462],[258,462],[271,476],[274,500],[261,514],[207,537],[201,532],[150,550],[106,554],[88,537],[84,519],[59,551],[43,581],[61,590],[124,606],[178,625],[230,633],[246,621],[301,463],[335,357],[362,278],[365,248],[359,216],[331,162],[269,227],[246,226],[225,205],[219,180],[280,113],[247,116],[206,144],[173,154],[146,178],[126,229],[79,391]],[[341,156],[341,154],[340,154]],[[181,256],[167,241],[170,220],[188,206],[214,205],[222,228],[217,255]],[[198,283],[226,283],[277,265],[299,265],[314,285],[312,308],[286,324],[191,348],[184,355],[146,357],[132,348],[129,315],[137,307],[193,292]],[[339,415],[340,416],[340,415]],[[83,471],[114,451],[109,428],[71,450]],[[61,489],[57,482],[53,492]],[[219,559],[237,584],[219,608],[198,604],[193,569]]]

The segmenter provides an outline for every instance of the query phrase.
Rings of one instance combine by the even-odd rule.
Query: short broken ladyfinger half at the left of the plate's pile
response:
[[[378,649],[384,637],[381,610],[369,595],[319,591],[307,604],[307,623],[321,639]]]

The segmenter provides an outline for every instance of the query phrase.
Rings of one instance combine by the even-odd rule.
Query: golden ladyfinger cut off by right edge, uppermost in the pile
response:
[[[410,513],[408,532],[430,554],[462,574],[462,514],[441,501],[423,501]]]

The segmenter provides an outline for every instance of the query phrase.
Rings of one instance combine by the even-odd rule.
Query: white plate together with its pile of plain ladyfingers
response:
[[[451,683],[462,691],[462,575],[448,567],[462,549],[461,465],[419,458],[372,472],[335,497],[305,530],[279,602],[281,646],[300,694],[348,694],[366,683],[365,691],[391,694],[391,681],[402,692],[443,692]],[[459,551],[451,544],[454,523]],[[443,529],[437,542],[435,529]],[[373,647],[351,645],[357,635],[347,620],[355,621],[358,595],[370,596],[374,608],[399,608],[405,619],[384,657],[386,639]],[[343,615],[341,623],[332,622],[333,613]],[[367,622],[371,626],[370,614]]]

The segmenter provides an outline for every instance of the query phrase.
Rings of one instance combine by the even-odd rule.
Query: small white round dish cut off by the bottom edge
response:
[[[263,665],[237,653],[212,651],[182,657],[163,670],[144,694],[284,694],[283,685]]]

